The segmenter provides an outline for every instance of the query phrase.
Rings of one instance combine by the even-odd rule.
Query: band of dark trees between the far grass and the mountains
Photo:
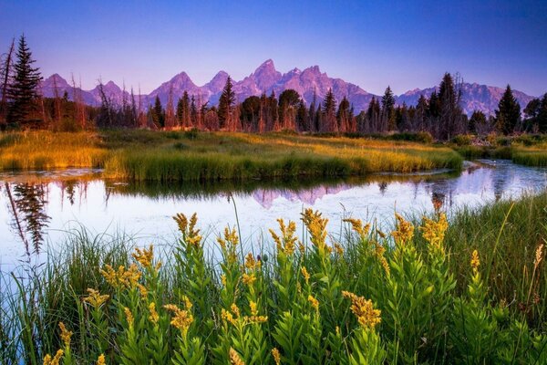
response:
[[[72,95],[60,95],[54,81],[54,97],[40,95],[42,77],[26,44],[25,36],[15,41],[2,59],[0,74],[0,129],[49,128],[81,130],[98,128],[198,129],[246,132],[290,130],[309,133],[374,134],[386,132],[428,132],[438,140],[450,140],[463,133],[503,134],[547,132],[547,94],[533,99],[521,112],[511,86],[507,86],[495,115],[475,110],[468,118],[460,106],[462,80],[446,73],[428,97],[420,95],[416,106],[396,105],[387,87],[381,98],[373,97],[366,110],[356,113],[349,99],[336,100],[329,89],[323,100],[315,94],[309,105],[294,89],[251,96],[237,102],[232,78],[227,78],[218,106],[201,96],[184,91],[173,98],[170,89],[166,105],[157,96],[152,105],[143,105],[140,92],[123,88],[121,99],[108,96],[102,81],[98,91],[100,106],[84,103],[81,87],[72,78]]]

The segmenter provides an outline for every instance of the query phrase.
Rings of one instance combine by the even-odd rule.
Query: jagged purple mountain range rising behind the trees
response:
[[[156,97],[159,97],[161,103],[165,106],[167,105],[171,90],[174,103],[176,103],[177,99],[181,98],[182,93],[186,90],[189,95],[195,97],[196,101],[201,100],[201,103],[208,101],[210,105],[216,105],[227,78],[228,73],[219,71],[211,81],[203,86],[198,86],[194,84],[186,72],[181,72],[169,81],[162,83],[160,87],[154,89],[150,94],[136,95],[135,98],[140,98],[141,105],[146,108],[154,102]],[[43,95],[49,98],[54,97],[56,84],[58,95],[62,96],[67,91],[68,98],[73,98],[73,87],[58,74],[54,74],[42,81]],[[397,95],[396,102],[398,105],[402,105],[403,103],[406,103],[408,106],[416,105],[420,95],[428,97],[436,88],[409,90],[404,94]],[[85,103],[89,105],[100,104],[98,86],[91,90],[76,89]],[[321,102],[328,89],[333,89],[336,100],[340,101],[346,97],[353,104],[356,112],[366,110],[373,97],[381,98],[381,96],[369,93],[356,84],[346,82],[341,78],[330,78],[325,72],[321,72],[318,66],[304,68],[304,70],[294,68],[286,73],[281,73],[275,69],[274,61],[271,59],[263,62],[248,77],[240,81],[233,81],[233,90],[239,102],[252,95],[260,96],[263,92],[267,95],[274,92],[275,95],[279,96],[285,89],[296,90],[307,105],[312,102],[314,97],[317,102]],[[463,83],[461,89],[461,107],[467,114],[472,113],[473,110],[481,110],[486,114],[493,114],[505,90],[504,88],[477,83]],[[104,84],[103,90],[109,98],[118,103],[122,101],[124,95],[127,100],[130,97],[128,90],[124,91],[113,81],[108,81]],[[521,104],[521,109],[530,100],[534,99],[534,97],[519,90],[513,90],[513,95]]]

